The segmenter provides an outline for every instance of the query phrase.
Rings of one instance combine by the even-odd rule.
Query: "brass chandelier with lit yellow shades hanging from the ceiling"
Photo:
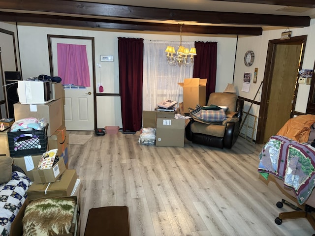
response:
[[[177,52],[172,46],[167,46],[165,53],[166,59],[170,65],[189,65],[193,61],[193,56],[197,55],[196,48],[185,48],[182,46],[182,27],[183,24],[180,24],[180,44],[178,46]]]

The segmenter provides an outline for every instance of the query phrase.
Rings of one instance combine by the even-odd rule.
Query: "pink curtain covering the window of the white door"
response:
[[[86,45],[57,43],[57,55],[63,85],[91,86]]]

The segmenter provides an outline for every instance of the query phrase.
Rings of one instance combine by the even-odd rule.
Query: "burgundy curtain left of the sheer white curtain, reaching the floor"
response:
[[[142,125],[143,39],[118,37],[119,91],[123,131]]]

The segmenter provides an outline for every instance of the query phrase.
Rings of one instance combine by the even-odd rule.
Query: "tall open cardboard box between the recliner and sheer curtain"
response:
[[[191,78],[184,79],[184,83],[178,83],[183,87],[184,113],[189,113],[188,108],[195,108],[197,104],[201,107],[206,105],[207,79]]]

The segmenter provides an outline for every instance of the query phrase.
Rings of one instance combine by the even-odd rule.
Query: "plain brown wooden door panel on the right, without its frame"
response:
[[[279,44],[275,51],[264,143],[291,118],[301,44]]]

